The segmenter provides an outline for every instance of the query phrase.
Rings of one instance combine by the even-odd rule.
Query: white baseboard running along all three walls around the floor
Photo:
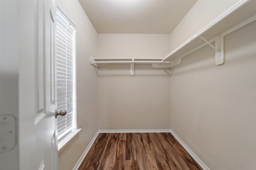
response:
[[[130,129],[130,130],[98,130],[97,133],[92,138],[92,141],[89,143],[88,147],[84,150],[84,153],[79,158],[78,162],[74,166],[73,170],[78,170],[79,166],[82,164],[86,154],[92,147],[92,144],[98,137],[100,133],[171,133],[175,139],[180,143],[180,145],[190,154],[190,156],[204,169],[210,170],[197,156],[189,149],[189,147],[172,131],[171,129]]]

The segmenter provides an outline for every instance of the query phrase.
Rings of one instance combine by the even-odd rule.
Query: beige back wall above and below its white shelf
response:
[[[168,34],[99,34],[98,57],[164,57]],[[170,129],[170,69],[135,64],[98,69],[99,129]]]

